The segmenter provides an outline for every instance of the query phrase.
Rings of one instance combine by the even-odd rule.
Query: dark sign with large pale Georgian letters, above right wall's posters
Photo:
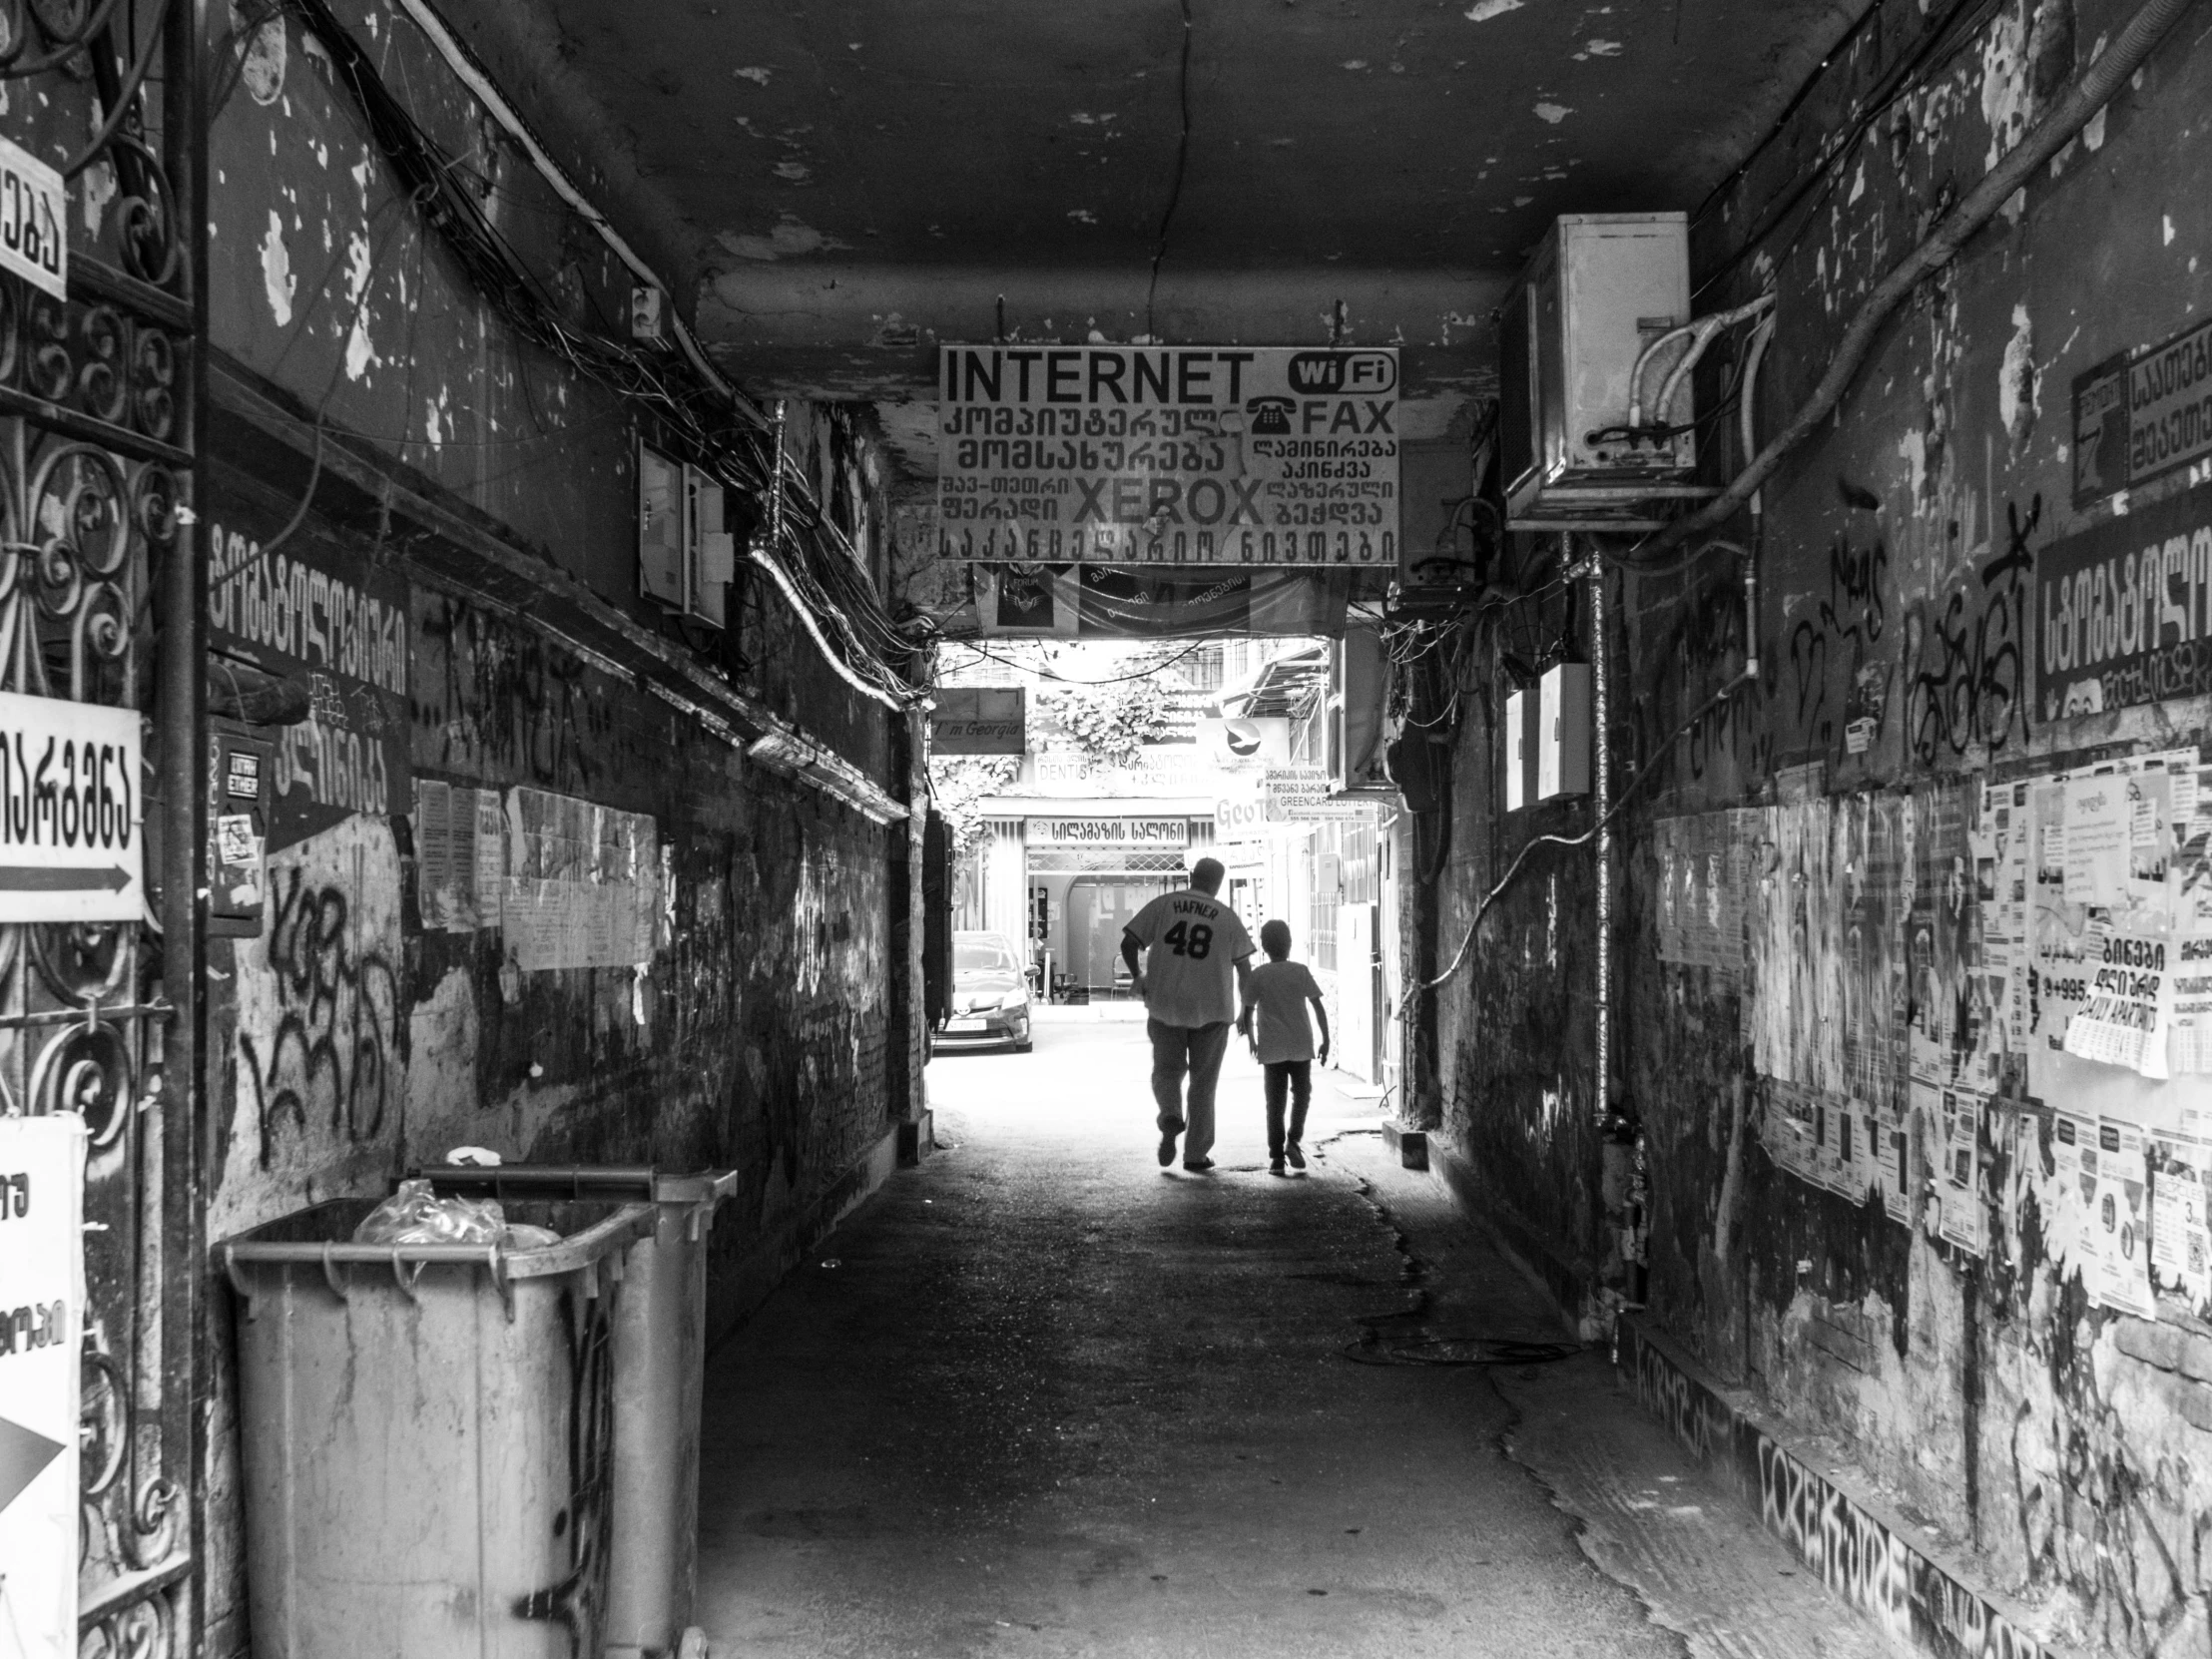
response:
[[[2035,555],[2044,719],[2212,690],[2212,487]]]

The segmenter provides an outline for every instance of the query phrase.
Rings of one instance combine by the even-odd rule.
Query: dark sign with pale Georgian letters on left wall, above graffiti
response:
[[[307,690],[307,719],[276,734],[270,852],[356,814],[403,814],[407,763],[407,580],[303,520],[208,491],[212,644]]]

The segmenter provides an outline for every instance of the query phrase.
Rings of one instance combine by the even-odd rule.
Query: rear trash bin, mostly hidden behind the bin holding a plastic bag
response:
[[[677,1655],[699,1584],[699,1391],[706,1374],[706,1234],[737,1170],[436,1164],[438,1192],[653,1203],[615,1305],[615,1489],[604,1659]],[[692,1637],[697,1644],[699,1637]]]

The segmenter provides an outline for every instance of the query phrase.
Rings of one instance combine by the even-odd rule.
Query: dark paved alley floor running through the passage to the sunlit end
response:
[[[1885,1652],[1601,1352],[1354,1358],[1363,1332],[1562,1338],[1385,1161],[1378,1102],[1316,1088],[1312,1168],[1270,1177],[1232,1053],[1219,1168],[1170,1172],[1146,1066],[1108,1011],[940,1055],[945,1148],[710,1358],[714,1655]]]

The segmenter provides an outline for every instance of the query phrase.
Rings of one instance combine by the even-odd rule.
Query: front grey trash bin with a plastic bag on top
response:
[[[356,1245],[372,1208],[217,1245],[254,1659],[597,1652],[615,1318],[653,1206],[509,1206],[562,1234],[542,1250]]]

